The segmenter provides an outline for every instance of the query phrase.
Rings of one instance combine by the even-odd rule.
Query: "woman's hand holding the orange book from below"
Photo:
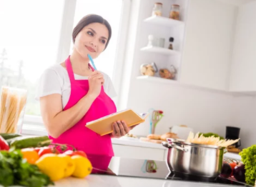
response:
[[[125,121],[116,121],[113,123],[112,137],[120,138],[120,137],[126,135],[127,133],[129,133],[129,131],[132,130],[132,128],[134,128],[134,127],[135,126],[128,127],[127,123],[125,123]]]

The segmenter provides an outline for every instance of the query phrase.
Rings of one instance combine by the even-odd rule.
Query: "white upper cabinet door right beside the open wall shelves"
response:
[[[182,82],[227,90],[236,13],[222,1],[190,1]]]

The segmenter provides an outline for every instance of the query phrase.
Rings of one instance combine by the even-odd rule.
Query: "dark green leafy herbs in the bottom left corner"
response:
[[[22,158],[20,150],[0,151],[0,184],[42,187],[54,184],[36,165]]]

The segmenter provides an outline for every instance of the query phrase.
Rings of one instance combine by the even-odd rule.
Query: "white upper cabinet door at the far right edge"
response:
[[[232,91],[256,90],[256,1],[240,6],[230,75]]]

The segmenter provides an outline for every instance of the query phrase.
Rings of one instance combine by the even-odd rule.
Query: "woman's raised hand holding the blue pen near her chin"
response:
[[[92,75],[88,78],[89,81],[89,91],[88,94],[94,99],[99,96],[102,90],[102,85],[104,84],[104,77],[99,71],[92,72]]]

